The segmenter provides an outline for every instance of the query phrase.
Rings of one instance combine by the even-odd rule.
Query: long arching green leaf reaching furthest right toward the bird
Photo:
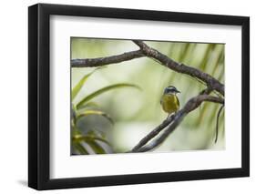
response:
[[[137,85],[134,84],[127,84],[127,83],[121,83],[121,84],[115,84],[115,85],[110,85],[108,87],[103,87],[101,89],[98,89],[97,91],[93,92],[92,94],[88,95],[87,97],[84,97],[78,104],[77,108],[81,108],[85,103],[87,103],[89,100],[91,100],[94,97],[97,97],[98,95],[101,95],[104,92],[107,92],[111,89],[117,89],[117,88],[122,88],[122,87],[135,87],[138,89],[141,89]]]

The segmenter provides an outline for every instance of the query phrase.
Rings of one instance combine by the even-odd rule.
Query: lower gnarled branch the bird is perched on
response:
[[[147,142],[145,143],[145,141],[143,141],[142,138],[141,141],[143,141],[144,145],[146,146],[142,146],[140,147],[140,145],[142,145],[139,141],[138,145],[134,148],[131,149],[130,152],[145,152],[148,150],[151,150],[153,148],[157,148],[166,138],[169,137],[169,134],[174,131],[175,128],[177,128],[179,126],[179,123],[183,120],[183,118],[189,114],[189,112],[191,112],[192,110],[196,109],[197,107],[200,106],[200,104],[203,101],[209,101],[209,102],[215,102],[215,103],[220,103],[224,105],[224,99],[220,98],[220,97],[212,97],[209,95],[199,95],[197,97],[192,97],[189,99],[189,101],[186,103],[186,105],[180,109],[171,119],[171,121],[169,122],[169,127],[159,136],[159,138],[157,138],[156,140],[152,141],[151,143],[149,143],[148,145],[147,142],[152,139],[152,138],[147,138],[149,137],[150,133],[145,137],[147,138]],[[161,124],[162,125],[162,124]],[[168,125],[167,125],[168,126]],[[153,137],[154,138],[154,137]]]

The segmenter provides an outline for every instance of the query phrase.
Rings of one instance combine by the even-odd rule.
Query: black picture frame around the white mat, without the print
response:
[[[241,26],[242,125],[241,168],[206,169],[118,176],[50,179],[49,18],[50,15],[91,16],[148,21]],[[250,18],[78,5],[37,4],[28,8],[28,186],[68,189],[179,180],[223,179],[250,175]]]

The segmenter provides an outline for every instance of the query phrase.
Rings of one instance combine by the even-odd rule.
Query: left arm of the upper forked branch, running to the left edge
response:
[[[123,61],[128,61],[134,58],[145,56],[141,50],[131,51],[118,56],[107,56],[98,58],[77,58],[71,60],[72,67],[88,67],[88,66],[106,66],[109,64],[117,64]]]

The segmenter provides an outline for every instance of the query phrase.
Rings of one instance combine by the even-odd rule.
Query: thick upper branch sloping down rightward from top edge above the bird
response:
[[[141,51],[146,56],[157,59],[161,65],[167,66],[176,72],[179,72],[182,74],[187,74],[191,77],[199,78],[201,81],[206,83],[206,85],[208,87],[210,87],[211,89],[217,90],[218,92],[220,92],[221,95],[224,96],[224,85],[221,84],[214,77],[211,77],[209,74],[204,73],[204,72],[200,71],[199,69],[194,68],[192,66],[186,66],[184,64],[180,64],[180,63],[172,60],[168,56],[161,54],[158,50],[149,47],[148,45],[146,45],[144,42],[142,42],[140,40],[134,40],[133,42],[140,47]]]

